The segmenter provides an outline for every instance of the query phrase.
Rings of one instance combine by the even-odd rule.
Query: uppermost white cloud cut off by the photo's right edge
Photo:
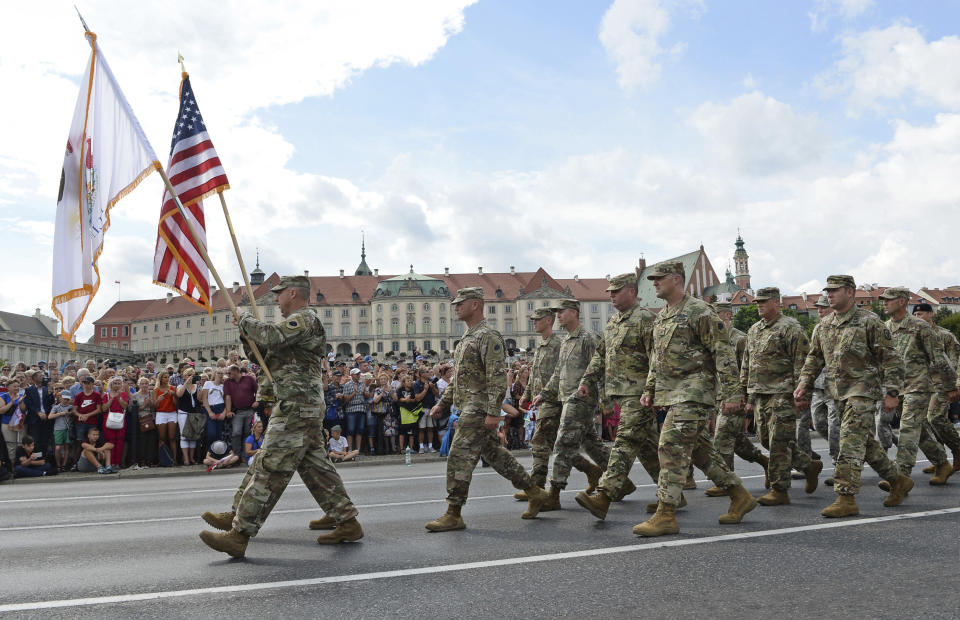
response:
[[[883,110],[898,100],[960,109],[960,38],[927,41],[917,28],[896,24],[842,38],[843,55],[816,79],[827,95],[847,98],[851,114]]]

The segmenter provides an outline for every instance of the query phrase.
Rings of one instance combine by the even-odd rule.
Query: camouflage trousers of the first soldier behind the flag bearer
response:
[[[463,506],[467,503],[473,470],[483,457],[494,471],[513,483],[513,486],[526,490],[533,486],[530,475],[513,458],[510,452],[500,445],[497,431],[483,425],[484,415],[474,413],[460,416],[460,428],[450,444],[447,457],[447,503],[451,506]]]

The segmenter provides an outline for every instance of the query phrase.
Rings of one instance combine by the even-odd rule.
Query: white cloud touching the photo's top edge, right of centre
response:
[[[696,16],[703,10],[701,0],[671,2],[663,0],[614,0],[600,23],[600,42],[616,63],[620,87],[631,92],[660,77],[661,59],[678,56],[686,49],[683,42],[669,49],[661,39],[670,26],[670,9],[685,7]]]

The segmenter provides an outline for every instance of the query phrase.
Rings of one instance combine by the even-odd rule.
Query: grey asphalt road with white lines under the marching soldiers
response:
[[[826,454],[822,441],[814,449]],[[925,464],[898,508],[881,505],[868,469],[859,517],[822,518],[833,491],[806,495],[795,481],[790,506],[735,526],[717,523],[728,500],[705,497],[697,472],[681,533],[658,539],[630,531],[655,490],[639,464],[638,491],[604,522],[574,502],[580,475],[563,510],[524,521],[510,484],[478,468],[468,529],[441,534],[423,525],[445,509],[443,463],[351,468],[360,542],[317,545],[306,525],[320,513],[294,478],[243,560],[197,537],[201,512],[229,509],[239,471],[2,486],[0,615],[957,618],[960,475],[931,487]],[[737,467],[760,495],[762,470]]]

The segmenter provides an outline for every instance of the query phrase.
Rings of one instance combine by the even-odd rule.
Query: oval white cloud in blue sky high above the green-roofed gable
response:
[[[766,175],[815,162],[825,140],[815,119],[754,91],[730,103],[704,103],[689,117],[717,161],[751,175]]]

